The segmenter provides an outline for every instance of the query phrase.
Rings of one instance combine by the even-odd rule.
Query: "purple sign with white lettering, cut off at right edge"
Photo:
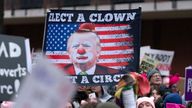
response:
[[[185,100],[192,101],[192,66],[185,68]]]

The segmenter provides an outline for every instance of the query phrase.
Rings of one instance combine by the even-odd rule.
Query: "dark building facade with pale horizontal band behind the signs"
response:
[[[5,34],[30,38],[41,49],[50,8],[120,10],[142,8],[141,45],[175,51],[171,73],[192,65],[192,0],[4,0]]]

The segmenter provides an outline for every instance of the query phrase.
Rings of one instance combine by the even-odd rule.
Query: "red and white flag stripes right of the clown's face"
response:
[[[102,52],[99,64],[120,69],[133,59],[133,37],[128,24],[96,24]]]

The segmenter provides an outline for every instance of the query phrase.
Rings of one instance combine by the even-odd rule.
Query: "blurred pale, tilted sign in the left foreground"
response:
[[[24,80],[13,108],[65,108],[74,87],[62,70],[41,59]]]

